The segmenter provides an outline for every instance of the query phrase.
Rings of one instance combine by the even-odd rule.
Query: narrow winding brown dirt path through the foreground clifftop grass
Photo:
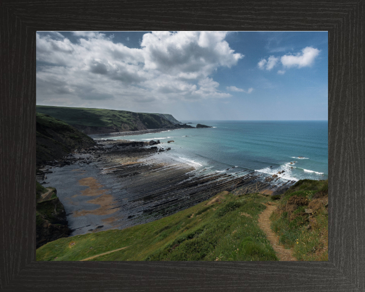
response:
[[[270,240],[279,261],[297,261],[293,257],[291,249],[285,249],[283,245],[279,245],[278,236],[270,228],[270,215],[276,210],[277,206],[272,203],[265,204],[266,209],[259,215],[259,227],[266,233],[267,239]]]

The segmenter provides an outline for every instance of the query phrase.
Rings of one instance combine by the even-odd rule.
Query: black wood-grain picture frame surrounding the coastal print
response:
[[[329,31],[329,261],[36,262],[36,30]],[[0,290],[365,290],[363,0],[6,0],[0,46]]]

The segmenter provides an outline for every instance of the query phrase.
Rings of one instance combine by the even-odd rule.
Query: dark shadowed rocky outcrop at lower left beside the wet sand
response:
[[[36,182],[36,248],[61,237],[71,230],[67,226],[66,212],[57,197],[55,188],[44,188]]]

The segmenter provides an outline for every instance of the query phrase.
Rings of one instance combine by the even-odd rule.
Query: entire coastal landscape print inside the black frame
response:
[[[327,31],[37,32],[37,261],[327,261],[327,100]]]

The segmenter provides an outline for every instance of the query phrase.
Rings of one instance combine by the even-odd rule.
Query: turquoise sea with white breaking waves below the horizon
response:
[[[328,177],[327,121],[182,122],[213,128],[178,129],[108,139],[160,140],[163,142],[160,146],[171,147],[171,151],[164,155],[204,171],[237,172],[248,169],[274,174],[285,170],[279,175],[284,179]],[[174,143],[167,144],[168,140],[174,140]],[[234,170],[227,170],[233,166]]]

